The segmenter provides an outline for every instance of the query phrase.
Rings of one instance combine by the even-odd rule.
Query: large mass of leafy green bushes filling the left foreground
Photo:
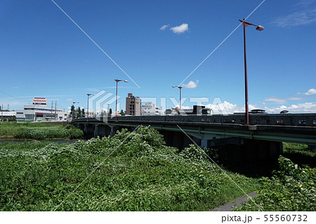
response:
[[[228,175],[246,192],[258,187]],[[205,211],[243,195],[230,178],[198,147],[177,152],[149,128],[71,145],[0,145],[1,211]]]

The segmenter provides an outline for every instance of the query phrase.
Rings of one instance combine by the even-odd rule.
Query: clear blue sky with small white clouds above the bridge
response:
[[[2,0],[0,104],[22,109],[33,97],[86,107],[86,93],[178,100],[179,85],[263,0]],[[247,21],[250,109],[316,112],[316,1],[266,0]],[[184,98],[219,97],[244,107],[242,26],[184,81]],[[185,100],[183,107],[195,103]],[[78,106],[78,105],[77,105]],[[110,105],[114,108],[114,103]]]

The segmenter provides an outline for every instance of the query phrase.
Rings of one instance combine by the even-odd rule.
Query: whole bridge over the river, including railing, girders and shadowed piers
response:
[[[83,130],[87,138],[113,136],[122,128],[133,131],[139,125],[151,126],[164,135],[167,145],[180,150],[192,140],[202,147],[227,145],[235,159],[242,156],[235,151],[249,155],[249,159],[277,157],[282,152],[282,142],[304,143],[311,150],[316,149],[316,114],[252,114],[252,125],[247,126],[237,124],[239,118],[243,116],[126,116],[117,117],[117,121],[114,117],[74,119],[72,124]],[[268,124],[263,122],[267,119]]]

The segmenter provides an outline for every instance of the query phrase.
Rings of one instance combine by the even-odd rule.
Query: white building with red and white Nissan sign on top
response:
[[[16,111],[17,121],[67,121],[68,112],[49,107],[46,98],[33,98],[33,105],[25,105]]]

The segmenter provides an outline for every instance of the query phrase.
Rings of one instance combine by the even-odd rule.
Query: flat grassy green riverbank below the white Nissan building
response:
[[[62,126],[50,123],[1,123],[0,136],[18,139],[81,138],[84,133],[74,126]]]

